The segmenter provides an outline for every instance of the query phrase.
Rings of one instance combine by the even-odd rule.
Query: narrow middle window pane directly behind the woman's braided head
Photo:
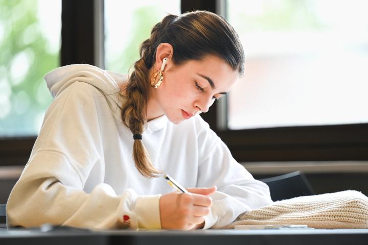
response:
[[[180,14],[179,0],[105,0],[106,69],[127,74],[140,57],[140,44],[149,38],[153,26],[167,14]]]

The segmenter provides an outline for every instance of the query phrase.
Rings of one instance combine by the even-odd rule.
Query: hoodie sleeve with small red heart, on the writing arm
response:
[[[108,184],[83,190],[90,170],[103,161],[93,86],[75,82],[45,114],[29,162],[10,193],[8,227],[44,223],[91,229],[160,229],[160,195],[117,195]],[[106,115],[105,115],[106,116]]]

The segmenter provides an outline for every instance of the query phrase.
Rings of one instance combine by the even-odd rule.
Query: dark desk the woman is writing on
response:
[[[132,231],[132,230],[0,230],[0,244],[145,244],[145,245],[233,245],[233,244],[297,244],[351,245],[368,244],[368,229],[335,230],[195,230],[195,231]]]

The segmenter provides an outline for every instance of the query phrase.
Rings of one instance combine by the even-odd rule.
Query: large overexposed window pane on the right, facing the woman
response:
[[[246,55],[228,128],[368,122],[366,9],[364,0],[228,0]]]

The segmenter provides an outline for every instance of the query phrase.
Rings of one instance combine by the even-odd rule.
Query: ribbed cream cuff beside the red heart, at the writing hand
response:
[[[162,229],[159,213],[159,199],[161,195],[141,195],[136,198],[134,212],[138,220],[138,227],[143,229]]]

